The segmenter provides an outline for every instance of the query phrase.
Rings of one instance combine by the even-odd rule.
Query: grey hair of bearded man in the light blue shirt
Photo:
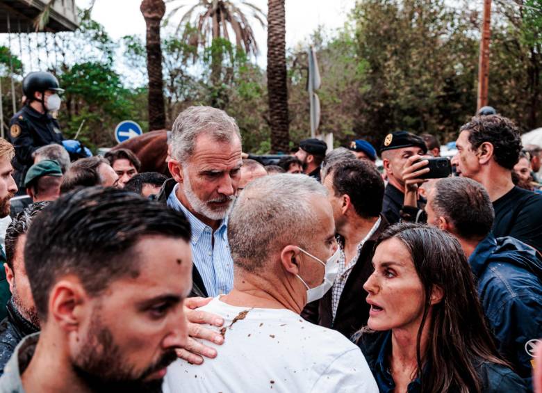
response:
[[[215,141],[229,142],[233,135],[241,140],[234,118],[211,106],[190,106],[175,119],[171,131],[172,157],[186,162],[194,152],[197,136],[210,134]]]

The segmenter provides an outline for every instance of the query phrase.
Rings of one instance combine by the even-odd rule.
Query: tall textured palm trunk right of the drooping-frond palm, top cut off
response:
[[[290,150],[284,1],[268,2],[268,96],[271,151],[274,153]]]

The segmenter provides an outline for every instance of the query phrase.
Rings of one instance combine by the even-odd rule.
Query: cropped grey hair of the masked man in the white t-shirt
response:
[[[228,240],[233,262],[245,271],[265,266],[273,252],[288,244],[311,243],[315,218],[311,197],[327,196],[322,184],[306,175],[281,173],[247,184],[233,207]]]

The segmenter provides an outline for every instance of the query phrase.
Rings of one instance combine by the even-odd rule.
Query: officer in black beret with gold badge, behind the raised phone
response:
[[[427,153],[427,146],[422,138],[407,131],[395,131],[384,138],[380,147],[380,157],[384,161],[384,170],[388,176],[388,184],[384,192],[382,214],[388,223],[398,223],[402,218],[404,205],[404,180],[402,170],[409,157]],[[422,207],[424,200],[418,200]]]

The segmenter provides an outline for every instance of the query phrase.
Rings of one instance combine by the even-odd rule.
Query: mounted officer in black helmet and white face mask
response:
[[[24,175],[33,164],[32,153],[44,145],[62,144],[64,137],[54,113],[60,109],[58,93],[64,90],[49,72],[31,72],[23,80],[23,108],[10,122],[9,141],[15,147],[15,182],[24,193]]]

